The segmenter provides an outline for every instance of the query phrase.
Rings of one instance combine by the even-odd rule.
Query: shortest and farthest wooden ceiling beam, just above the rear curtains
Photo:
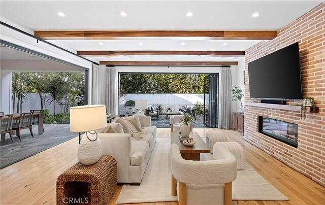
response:
[[[237,61],[100,61],[101,65],[238,65]]]

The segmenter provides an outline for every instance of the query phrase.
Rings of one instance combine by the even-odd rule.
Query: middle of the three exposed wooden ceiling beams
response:
[[[81,56],[119,56],[119,55],[210,55],[245,56],[245,51],[77,51]]]

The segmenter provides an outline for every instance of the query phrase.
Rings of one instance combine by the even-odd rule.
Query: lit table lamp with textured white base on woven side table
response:
[[[100,160],[102,146],[94,130],[106,126],[105,105],[87,105],[70,108],[70,131],[85,132],[78,149],[78,160],[80,163],[90,165]]]

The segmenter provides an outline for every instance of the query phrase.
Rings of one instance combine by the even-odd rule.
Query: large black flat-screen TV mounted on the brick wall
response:
[[[250,98],[302,99],[298,42],[248,63]]]

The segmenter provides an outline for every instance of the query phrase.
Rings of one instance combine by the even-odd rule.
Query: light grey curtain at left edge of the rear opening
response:
[[[105,104],[108,113],[116,114],[116,70],[114,66],[107,66]]]

